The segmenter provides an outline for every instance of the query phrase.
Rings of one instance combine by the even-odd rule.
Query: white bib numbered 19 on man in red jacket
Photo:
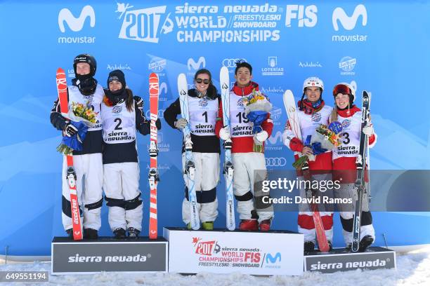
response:
[[[230,92],[231,137],[253,136],[252,127],[252,122],[245,116],[245,104],[242,102],[242,97]]]

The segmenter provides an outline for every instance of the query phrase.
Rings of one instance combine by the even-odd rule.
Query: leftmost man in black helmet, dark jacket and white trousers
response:
[[[98,238],[98,229],[101,226],[101,206],[103,203],[103,163],[102,163],[102,122],[100,117],[100,103],[103,100],[103,88],[93,76],[96,74],[97,63],[93,56],[81,54],[74,57],[73,69],[75,78],[72,86],[67,88],[69,102],[89,102],[93,111],[97,113],[96,124],[89,127],[82,151],[73,151],[74,169],[77,176],[76,187],[79,202],[79,212],[84,211],[84,238]],[[63,135],[72,137],[76,135],[77,128],[66,120],[60,113],[60,104],[57,99],[51,110],[51,123]],[[72,234],[72,210],[70,206],[70,189],[66,179],[67,160],[63,160],[63,198],[62,219],[63,226],[70,238]],[[84,191],[82,186],[84,185]]]

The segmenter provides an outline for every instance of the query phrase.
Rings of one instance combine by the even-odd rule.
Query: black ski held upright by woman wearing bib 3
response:
[[[366,192],[365,187],[365,165],[367,160],[367,143],[368,137],[363,133],[363,127],[369,121],[370,94],[363,91],[362,99],[362,114],[361,114],[361,130],[360,130],[360,151],[356,159],[357,179],[355,187],[357,190],[356,204],[354,207],[353,219],[353,241],[351,250],[358,252],[360,248],[360,226],[361,226],[361,208],[363,204],[363,196]]]

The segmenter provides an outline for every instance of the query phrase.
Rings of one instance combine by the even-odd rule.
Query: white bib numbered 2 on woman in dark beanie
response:
[[[125,102],[108,107],[101,104],[103,141],[107,144],[129,143],[136,140],[136,113],[128,111]]]

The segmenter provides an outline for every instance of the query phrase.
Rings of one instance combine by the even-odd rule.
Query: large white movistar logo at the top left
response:
[[[89,25],[91,28],[96,26],[96,13],[92,6],[84,6],[82,8],[79,17],[74,17],[72,12],[68,8],[63,8],[58,13],[58,27],[60,32],[66,33],[66,26],[72,32],[80,32],[84,29],[86,19],[89,18]],[[96,37],[94,36],[60,36],[58,37],[58,43],[94,43]]]

